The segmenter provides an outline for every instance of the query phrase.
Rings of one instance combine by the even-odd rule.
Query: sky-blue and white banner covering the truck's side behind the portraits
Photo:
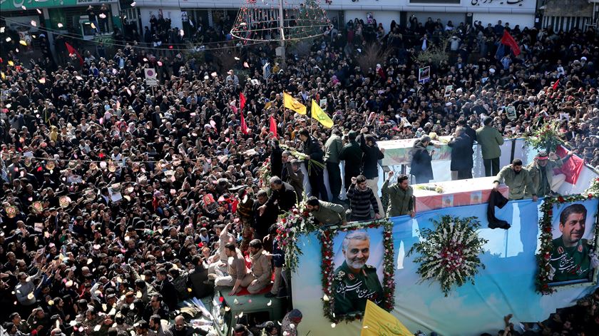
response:
[[[597,202],[597,200],[595,200]],[[535,292],[538,242],[539,205],[531,200],[509,202],[503,209],[496,208],[496,217],[508,220],[509,230],[487,228],[486,204],[444,208],[419,213],[416,218],[391,218],[394,223],[396,259],[395,309],[392,312],[412,332],[436,331],[441,335],[495,334],[503,329],[503,316],[509,313],[514,320],[536,322],[545,320],[557,308],[573,305],[575,300],[588,294],[591,287],[570,287],[553,295]],[[479,235],[486,238],[486,252],[481,260],[486,269],[475,278],[476,285],[467,284],[444,297],[436,282],[418,284],[418,265],[414,255],[405,257],[418,241],[419,228],[433,228],[431,219],[441,215],[476,216],[482,228]],[[292,275],[294,307],[304,314],[298,326],[299,335],[359,335],[361,321],[340,323],[332,327],[322,314],[322,287],[320,273],[320,243],[314,233],[302,236],[299,245],[303,255],[297,272]]]

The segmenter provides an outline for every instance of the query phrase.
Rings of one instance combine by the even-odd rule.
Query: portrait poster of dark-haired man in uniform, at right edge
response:
[[[559,207],[559,205],[555,205],[555,207]],[[550,259],[553,279],[551,284],[562,285],[564,282],[591,281],[593,263],[589,253],[594,249],[593,233],[597,200],[574,203],[563,209],[554,208],[553,210],[558,217],[554,216],[553,218],[553,250]]]

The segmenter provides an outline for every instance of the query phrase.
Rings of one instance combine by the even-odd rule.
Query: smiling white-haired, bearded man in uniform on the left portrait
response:
[[[345,261],[335,270],[333,279],[334,313],[364,313],[367,300],[381,305],[384,293],[377,269],[366,265],[370,255],[367,233],[348,233],[343,239],[342,250]]]

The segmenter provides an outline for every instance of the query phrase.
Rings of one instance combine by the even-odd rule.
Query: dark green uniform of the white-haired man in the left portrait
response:
[[[384,292],[377,268],[365,265],[359,273],[353,273],[343,262],[334,273],[333,298],[334,313],[337,315],[364,313],[367,300],[381,305]]]

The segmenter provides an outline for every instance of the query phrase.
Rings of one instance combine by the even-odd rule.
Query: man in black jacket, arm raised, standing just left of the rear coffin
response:
[[[372,189],[374,198],[377,198],[377,204],[381,214],[384,215],[383,203],[379,198],[379,160],[382,160],[384,155],[384,149],[379,149],[377,143],[374,142],[374,136],[365,134],[368,132],[368,128],[362,128],[359,143],[360,149],[362,149],[362,175],[366,176],[366,183]]]

